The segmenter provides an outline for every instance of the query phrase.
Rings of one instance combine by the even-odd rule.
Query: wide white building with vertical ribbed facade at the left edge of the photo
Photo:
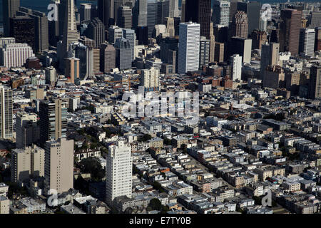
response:
[[[0,49],[0,65],[7,68],[21,67],[29,57],[34,57],[34,52],[26,43],[9,43]]]

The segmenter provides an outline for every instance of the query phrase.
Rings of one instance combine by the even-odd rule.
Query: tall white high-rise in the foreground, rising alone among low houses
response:
[[[116,197],[131,198],[133,159],[131,146],[124,141],[108,147],[106,157],[106,203],[111,205]]]

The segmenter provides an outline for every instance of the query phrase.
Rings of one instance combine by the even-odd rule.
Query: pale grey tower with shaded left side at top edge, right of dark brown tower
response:
[[[230,2],[215,0],[213,4],[213,24],[228,26],[230,23]]]

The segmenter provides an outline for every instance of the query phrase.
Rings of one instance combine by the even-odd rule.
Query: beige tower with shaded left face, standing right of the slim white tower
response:
[[[267,66],[275,66],[279,64],[279,49],[279,43],[265,43],[262,45],[260,65],[261,77],[263,77],[263,74]]]

